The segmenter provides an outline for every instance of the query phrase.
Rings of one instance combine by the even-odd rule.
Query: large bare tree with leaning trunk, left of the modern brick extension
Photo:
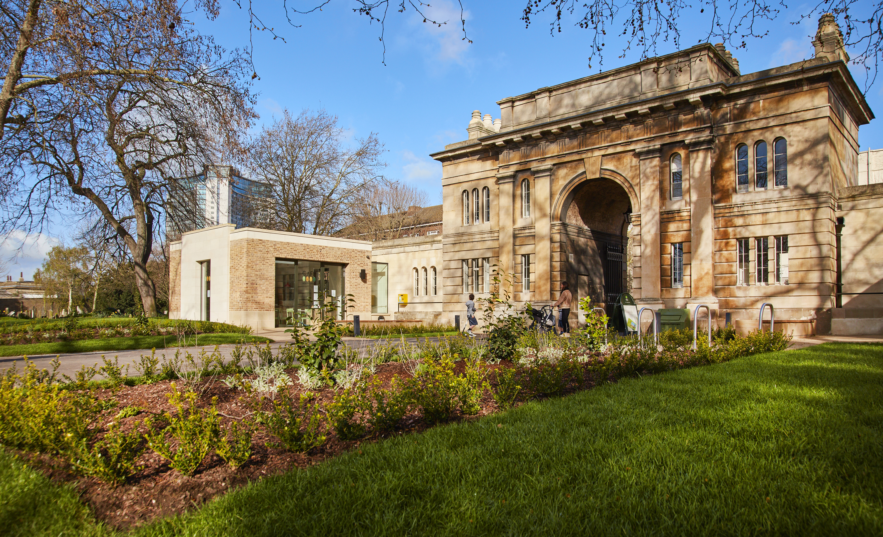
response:
[[[177,5],[156,5],[120,0],[58,37],[59,61],[101,72],[31,88],[27,101],[39,113],[2,140],[6,163],[36,178],[19,191],[4,227],[37,229],[58,201],[100,214],[132,256],[149,315],[156,306],[147,261],[172,178],[230,157],[253,118],[244,58],[183,28]]]

